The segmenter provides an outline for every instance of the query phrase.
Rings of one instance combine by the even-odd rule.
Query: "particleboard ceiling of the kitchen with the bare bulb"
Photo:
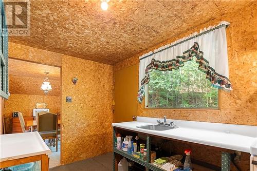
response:
[[[30,2],[31,35],[11,42],[115,64],[249,1]]]

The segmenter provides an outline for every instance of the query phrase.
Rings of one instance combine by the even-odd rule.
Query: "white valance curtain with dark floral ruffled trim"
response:
[[[171,71],[182,67],[185,62],[195,59],[198,69],[206,73],[206,79],[213,87],[232,90],[229,78],[226,27],[221,22],[183,39],[150,51],[139,57],[138,101],[142,102],[144,87],[150,81],[153,69]],[[194,58],[195,57],[195,58]],[[197,68],[196,68],[197,69]]]

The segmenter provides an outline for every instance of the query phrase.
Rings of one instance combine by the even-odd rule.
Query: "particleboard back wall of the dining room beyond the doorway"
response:
[[[12,132],[12,112],[22,111],[23,116],[32,117],[33,108],[36,103],[46,103],[50,112],[61,111],[61,97],[59,96],[41,96],[33,94],[11,94],[8,100],[5,100],[5,125],[7,133]]]

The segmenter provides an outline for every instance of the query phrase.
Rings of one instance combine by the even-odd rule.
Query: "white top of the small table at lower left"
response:
[[[39,132],[0,135],[0,162],[51,154]]]

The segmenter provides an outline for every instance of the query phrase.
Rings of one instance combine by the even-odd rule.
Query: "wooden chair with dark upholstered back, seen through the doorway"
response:
[[[56,151],[58,151],[58,115],[56,113],[38,113],[38,131],[43,140],[56,140]]]

